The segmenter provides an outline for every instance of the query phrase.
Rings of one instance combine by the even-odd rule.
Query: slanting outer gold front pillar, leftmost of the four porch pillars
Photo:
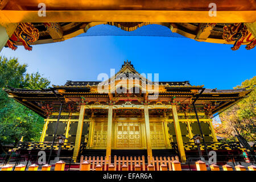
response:
[[[82,137],[82,125],[84,123],[84,113],[85,113],[85,105],[81,105],[80,114],[79,114],[79,123],[77,125],[77,131],[76,131],[75,147],[73,152],[74,162],[76,162],[77,155],[79,154],[79,150],[80,150],[81,137]]]

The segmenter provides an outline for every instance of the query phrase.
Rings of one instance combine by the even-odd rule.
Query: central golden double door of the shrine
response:
[[[142,147],[140,122],[117,122],[117,147]]]

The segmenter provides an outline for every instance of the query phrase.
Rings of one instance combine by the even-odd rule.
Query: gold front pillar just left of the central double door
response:
[[[112,117],[113,117],[113,106],[109,106],[109,115],[108,115],[108,134],[106,142],[106,158],[109,160],[111,155],[112,148]]]

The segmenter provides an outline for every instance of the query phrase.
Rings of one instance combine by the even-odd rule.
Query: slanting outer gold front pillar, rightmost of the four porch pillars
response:
[[[177,116],[176,105],[172,105],[172,117],[174,118],[174,128],[175,128],[176,140],[177,140],[177,145],[179,148],[181,162],[185,162],[186,161],[185,150],[184,150],[184,146],[183,146],[183,139],[181,136],[180,123],[179,123],[179,119]]]

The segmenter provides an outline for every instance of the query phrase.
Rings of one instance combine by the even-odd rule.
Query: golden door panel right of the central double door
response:
[[[166,139],[164,137],[164,129],[162,122],[150,123],[150,139],[152,148],[166,147]]]

